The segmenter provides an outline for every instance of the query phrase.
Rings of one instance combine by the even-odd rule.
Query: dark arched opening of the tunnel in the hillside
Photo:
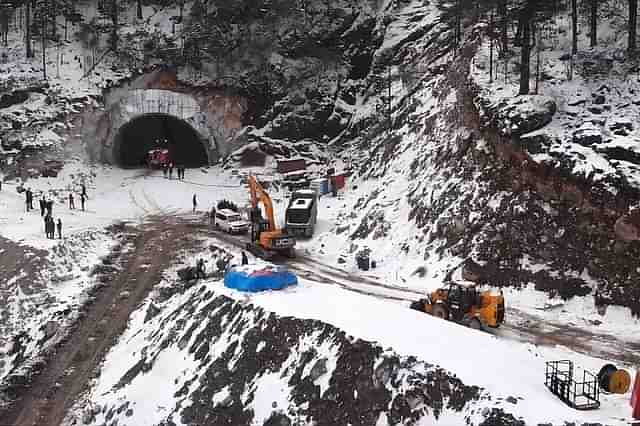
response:
[[[144,114],[124,124],[114,140],[114,159],[123,168],[144,167],[153,149],[168,149],[171,161],[184,167],[209,164],[209,155],[197,130],[167,114]]]

